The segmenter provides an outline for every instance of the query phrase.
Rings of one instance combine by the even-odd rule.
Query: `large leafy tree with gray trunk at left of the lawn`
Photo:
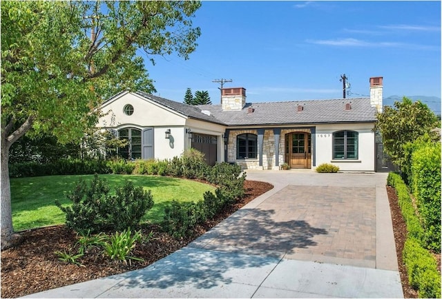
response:
[[[197,1],[1,1],[1,247],[13,241],[8,152],[23,135],[81,138],[99,104],[154,90],[144,55],[189,58]]]

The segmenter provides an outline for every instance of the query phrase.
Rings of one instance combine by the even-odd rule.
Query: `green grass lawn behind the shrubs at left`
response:
[[[151,190],[155,204],[142,218],[142,221],[151,223],[162,220],[164,207],[172,200],[198,201],[202,200],[204,192],[215,190],[211,185],[165,176],[99,176],[106,179],[111,192],[115,187],[122,186],[126,180],[132,181],[135,186]],[[55,205],[55,200],[60,200],[64,206],[70,205],[65,194],[73,190],[80,178],[90,182],[93,175],[11,178],[12,223],[15,231],[63,224],[64,213]]]

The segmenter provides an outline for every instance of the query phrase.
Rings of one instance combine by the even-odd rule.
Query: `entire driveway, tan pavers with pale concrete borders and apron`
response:
[[[153,265],[28,298],[403,298],[387,174],[247,171],[275,187]]]

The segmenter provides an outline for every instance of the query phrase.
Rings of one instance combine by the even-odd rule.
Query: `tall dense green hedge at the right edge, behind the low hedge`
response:
[[[427,143],[412,154],[412,190],[427,248],[441,250],[441,143]]]

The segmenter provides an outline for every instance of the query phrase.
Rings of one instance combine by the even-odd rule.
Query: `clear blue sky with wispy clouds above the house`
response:
[[[186,88],[214,79],[244,87],[247,102],[369,95],[383,76],[384,97],[441,96],[440,1],[203,1],[195,14],[198,48],[146,63],[157,95],[183,101]]]

